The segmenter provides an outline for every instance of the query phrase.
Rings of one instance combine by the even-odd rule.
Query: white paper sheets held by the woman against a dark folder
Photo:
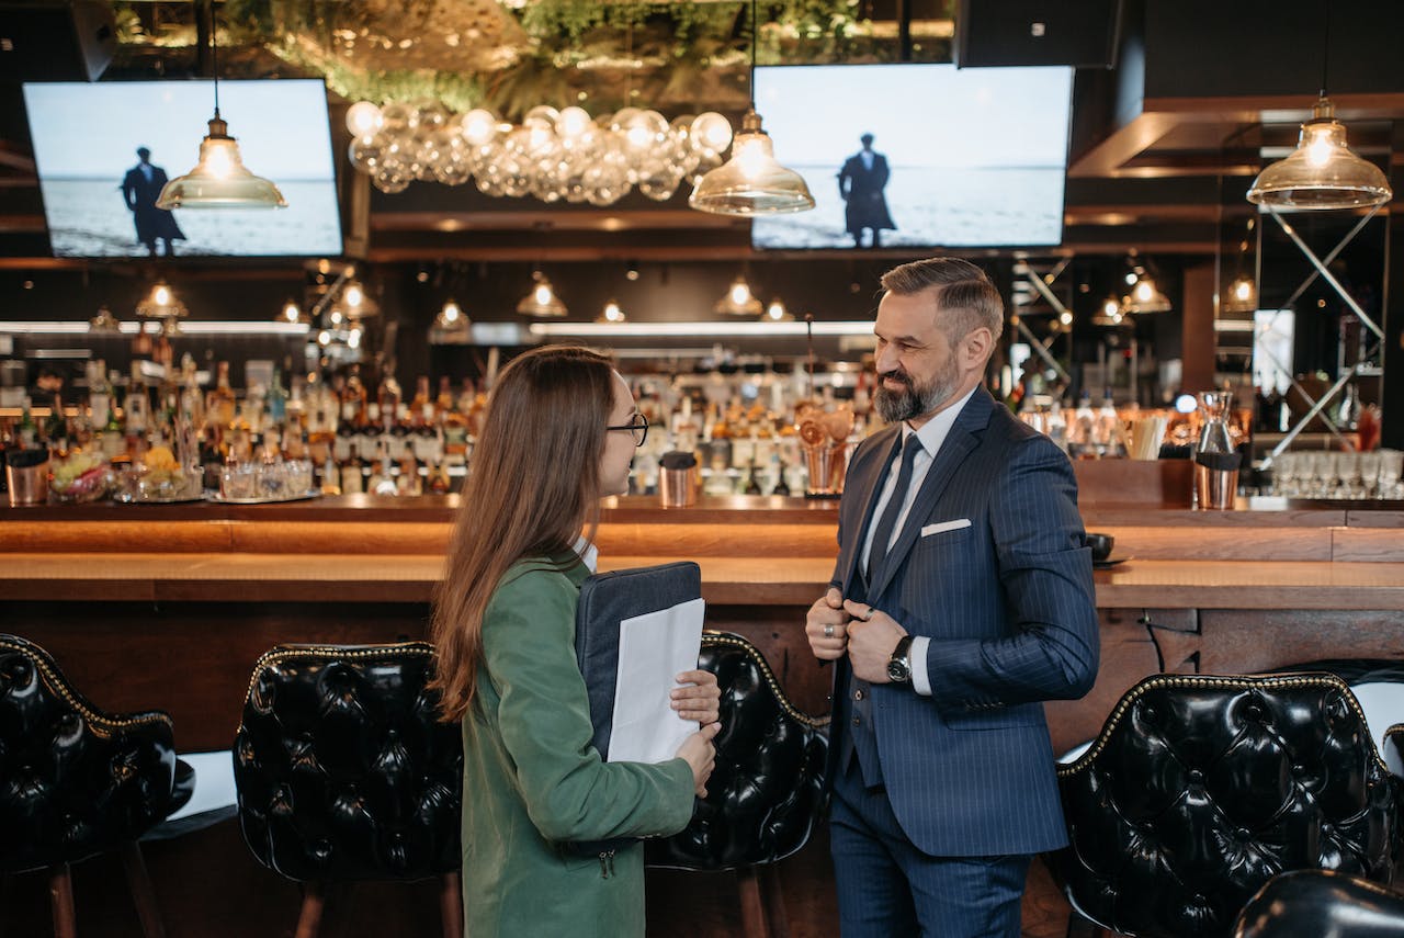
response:
[[[615,680],[609,762],[665,762],[698,725],[673,709],[674,677],[698,666],[702,600],[688,600],[619,623],[619,677]]]

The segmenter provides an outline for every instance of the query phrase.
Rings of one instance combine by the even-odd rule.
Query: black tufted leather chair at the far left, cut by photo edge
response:
[[[159,711],[104,713],[48,652],[0,635],[0,873],[48,872],[56,935],[77,930],[70,864],[111,850],[143,934],[164,934],[136,840],[190,798],[173,733]]]

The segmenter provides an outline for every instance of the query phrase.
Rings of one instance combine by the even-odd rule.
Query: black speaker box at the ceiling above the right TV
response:
[[[1109,69],[1120,7],[1122,0],[960,0],[956,65]]]

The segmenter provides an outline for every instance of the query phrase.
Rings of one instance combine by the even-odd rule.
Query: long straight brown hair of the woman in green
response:
[[[483,614],[507,569],[570,550],[595,524],[614,393],[609,359],[587,348],[536,348],[498,376],[434,593],[431,687],[445,722],[477,696]]]

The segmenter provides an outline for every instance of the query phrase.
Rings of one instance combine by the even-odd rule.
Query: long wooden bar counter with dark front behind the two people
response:
[[[1095,573],[1097,685],[1046,708],[1056,750],[1094,736],[1148,674],[1404,659],[1404,504],[1248,498],[1238,508],[1082,498],[1087,528],[1115,535],[1118,563]],[[181,750],[227,748],[250,668],[268,647],[424,638],[456,510],[453,496],[0,508],[0,630],[45,646],[102,708],[167,711]],[[751,639],[795,704],[826,713],[828,671],[802,626],[833,572],[835,522],[833,501],[737,496],[661,508],[626,497],[602,506],[597,543],[605,570],[696,560],[708,626]],[[296,889],[257,868],[232,824],[149,847],[171,934],[279,934],[296,917]],[[94,871],[80,903],[97,893],[125,907],[114,864],[76,869]],[[779,865],[776,882],[772,911],[783,910],[793,934],[837,934],[823,828]],[[375,889],[354,914],[376,934],[435,931],[432,887]],[[650,872],[650,924],[661,934],[685,916],[698,935],[740,934],[736,890],[729,875]],[[17,921],[42,931],[42,883],[21,897],[31,913]],[[211,921],[209,910],[230,901],[236,924]],[[1066,903],[1035,864],[1025,935],[1061,935],[1066,923]],[[112,924],[114,935],[136,934],[135,921],[131,931]]]

